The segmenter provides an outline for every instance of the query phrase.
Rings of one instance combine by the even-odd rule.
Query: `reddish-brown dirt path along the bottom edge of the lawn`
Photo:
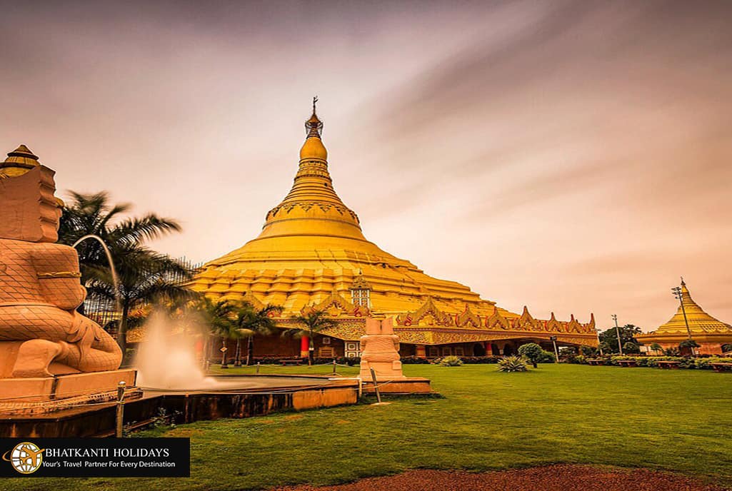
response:
[[[648,469],[548,465],[513,471],[408,471],[337,486],[277,491],[722,491],[699,479]]]

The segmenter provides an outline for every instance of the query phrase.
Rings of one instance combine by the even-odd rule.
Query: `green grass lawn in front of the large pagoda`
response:
[[[252,368],[220,370],[250,372]],[[329,372],[330,367],[262,367]],[[141,435],[191,438],[190,479],[36,479],[39,490],[242,490],[333,484],[409,468],[471,471],[552,462],[647,467],[732,487],[732,375],[542,364],[405,365],[438,398],[199,421]],[[357,368],[343,369],[346,375]],[[27,481],[0,487],[23,489]]]

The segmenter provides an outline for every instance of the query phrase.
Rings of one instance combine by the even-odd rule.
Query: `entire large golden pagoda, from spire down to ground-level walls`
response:
[[[292,315],[327,312],[337,327],[321,331],[315,356],[358,356],[368,316],[394,318],[403,356],[509,353],[521,342],[551,346],[553,336],[563,345],[597,345],[593,316],[579,323],[574,316],[557,321],[553,314],[541,321],[526,307],[515,314],[368,241],[359,217],[333,188],[322,130],[313,100],[290,192],[266,214],[259,236],[201,268],[193,290],[214,299],[283,307],[277,319],[283,328],[292,327]],[[255,356],[302,351],[279,337],[255,346]],[[307,350],[305,342],[302,348]]]

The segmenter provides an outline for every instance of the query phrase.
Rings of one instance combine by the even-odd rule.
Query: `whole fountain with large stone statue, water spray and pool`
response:
[[[135,386],[138,371],[119,370],[117,342],[76,311],[86,298],[78,254],[55,243],[63,203],[54,171],[37,159],[20,146],[0,162],[0,437],[113,434],[122,382],[124,421],[137,425],[161,409],[190,422],[356,402],[353,380],[206,376],[190,339],[171,336],[172,321],[161,316],[146,326],[143,385]],[[100,241],[113,271],[103,241],[76,244],[86,239]]]

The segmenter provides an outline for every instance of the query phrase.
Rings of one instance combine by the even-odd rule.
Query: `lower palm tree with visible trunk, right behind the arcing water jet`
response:
[[[184,280],[190,278],[192,271],[179,261],[139,244],[114,247],[113,254],[119,288],[115,287],[109,268],[87,265],[87,291],[90,296],[110,302],[119,295],[122,312],[117,342],[125,353],[130,311],[146,304],[190,297],[192,292],[184,287]]]

